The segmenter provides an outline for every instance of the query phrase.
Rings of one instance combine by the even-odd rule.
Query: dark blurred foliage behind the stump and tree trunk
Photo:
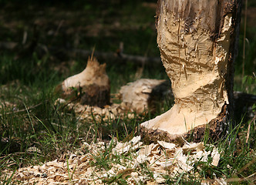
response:
[[[242,2],[234,88],[244,91],[246,89],[241,86],[246,82],[244,76],[254,78],[256,66],[256,2],[248,2],[244,65],[245,5]],[[0,5],[0,42],[17,44],[13,49],[9,49],[10,45],[0,44],[2,61],[7,59],[0,68],[2,83],[20,76],[25,82],[31,82],[35,76],[49,72],[61,75],[62,79],[79,72],[86,66],[86,59],[79,54],[67,55],[66,51],[72,49],[92,51],[95,48],[98,52],[115,53],[123,43],[126,54],[160,56],[154,18],[157,0],[1,0]],[[29,48],[33,42],[36,46]],[[122,85],[126,80],[133,80],[128,73],[136,73],[142,67],[133,61],[124,63],[118,59],[99,59],[99,62],[107,63],[107,72],[114,83],[116,74],[111,72],[120,73]],[[47,71],[43,72],[44,69]],[[140,77],[167,79],[160,63],[147,64],[143,69]],[[254,89],[248,93],[253,93]]]

